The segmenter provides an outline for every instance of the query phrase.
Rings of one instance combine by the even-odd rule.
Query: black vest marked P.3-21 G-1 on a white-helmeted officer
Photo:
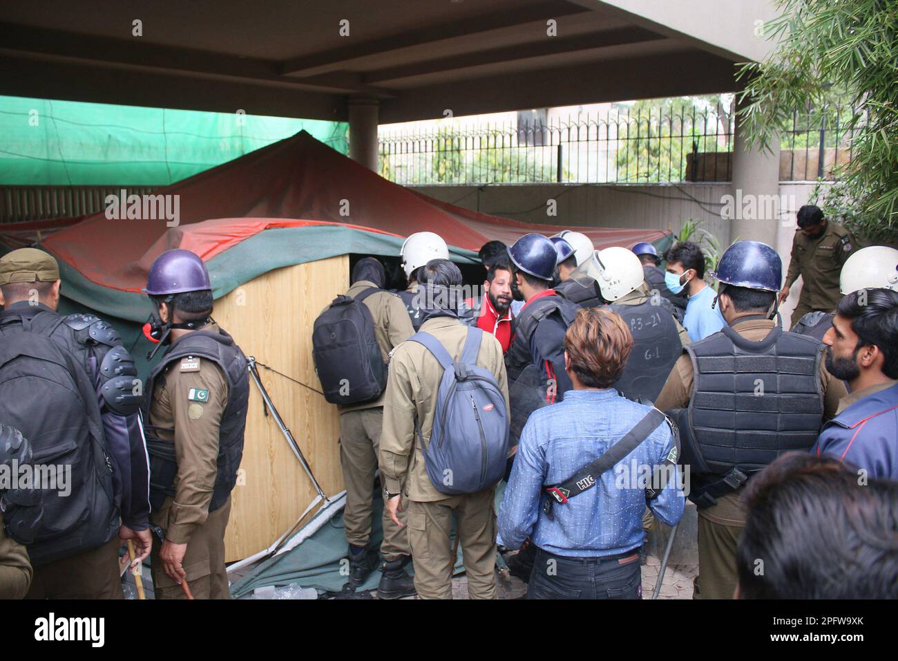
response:
[[[638,305],[608,306],[621,316],[633,335],[627,365],[614,384],[624,397],[633,400],[642,397],[654,402],[682,354],[680,334],[670,309],[673,306],[661,300],[664,302],[659,305],[652,305],[647,299]]]

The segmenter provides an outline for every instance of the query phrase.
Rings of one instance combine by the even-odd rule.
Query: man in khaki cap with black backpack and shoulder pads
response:
[[[119,547],[134,540],[136,564],[152,543],[137,414],[143,392],[115,328],[57,312],[61,286],[56,259],[42,250],[0,258],[0,363],[12,366],[18,356],[14,373],[0,374],[0,419],[47,465],[65,463],[78,485],[77,497],[45,490],[45,515],[28,547],[27,598],[123,599]]]

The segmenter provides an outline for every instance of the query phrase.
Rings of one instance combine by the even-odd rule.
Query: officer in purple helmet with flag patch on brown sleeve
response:
[[[151,522],[164,535],[153,549],[155,596],[183,598],[186,580],[197,599],[230,599],[225,528],[243,453],[246,357],[211,317],[212,285],[197,255],[159,255],[144,292],[154,335],[169,344],[146,386]]]

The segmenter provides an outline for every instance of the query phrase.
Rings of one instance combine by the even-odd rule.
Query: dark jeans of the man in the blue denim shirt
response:
[[[641,599],[638,550],[611,558],[568,558],[536,552],[527,599]]]

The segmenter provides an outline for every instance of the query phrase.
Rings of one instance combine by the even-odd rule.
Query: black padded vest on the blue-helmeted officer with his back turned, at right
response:
[[[822,344],[779,326],[753,342],[724,326],[686,352],[693,471],[751,476],[783,452],[814,445],[823,420]],[[686,454],[684,445],[684,462]]]

